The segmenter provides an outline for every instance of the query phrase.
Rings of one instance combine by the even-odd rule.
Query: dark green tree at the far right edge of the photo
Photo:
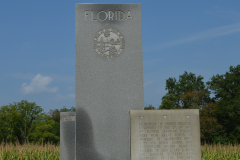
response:
[[[217,119],[224,132],[230,142],[240,142],[240,65],[213,76],[207,85],[215,95]]]

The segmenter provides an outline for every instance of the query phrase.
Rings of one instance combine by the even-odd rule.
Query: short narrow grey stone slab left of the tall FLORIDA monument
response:
[[[75,112],[60,112],[60,159],[75,160]]]

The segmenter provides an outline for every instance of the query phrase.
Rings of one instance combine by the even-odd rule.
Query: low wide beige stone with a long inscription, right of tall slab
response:
[[[131,160],[201,160],[198,109],[130,111]]]

